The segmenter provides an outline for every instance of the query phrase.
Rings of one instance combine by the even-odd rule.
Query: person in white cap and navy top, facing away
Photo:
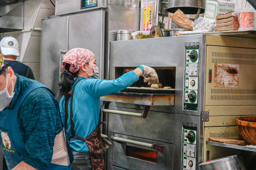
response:
[[[5,62],[11,66],[14,73],[22,75],[24,77],[35,79],[34,74],[29,66],[15,61],[20,56],[19,43],[14,37],[4,37],[0,41],[0,55]]]

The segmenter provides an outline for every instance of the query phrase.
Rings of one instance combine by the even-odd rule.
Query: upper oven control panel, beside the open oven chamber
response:
[[[186,47],[184,73],[184,110],[197,111],[199,47]]]

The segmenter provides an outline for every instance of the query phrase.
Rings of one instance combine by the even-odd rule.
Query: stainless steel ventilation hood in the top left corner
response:
[[[9,1],[10,2],[10,1]],[[0,5],[2,1],[0,1]],[[0,33],[6,33],[11,31],[23,30],[24,27],[24,2],[20,4],[12,5],[11,10],[8,11],[9,6],[5,6],[7,13],[0,17]]]

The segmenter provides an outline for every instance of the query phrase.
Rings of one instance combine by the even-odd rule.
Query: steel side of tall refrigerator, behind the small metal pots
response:
[[[138,31],[139,16],[140,8],[107,6],[105,27],[106,35],[108,34],[108,36],[105,37],[105,79],[109,79],[110,41],[117,40],[117,30],[128,29]]]

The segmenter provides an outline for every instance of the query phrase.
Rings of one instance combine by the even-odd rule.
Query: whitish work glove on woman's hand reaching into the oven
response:
[[[149,85],[152,83],[158,84],[159,80],[156,70],[146,65],[141,66],[143,66],[144,68],[144,73],[142,74],[142,76],[144,77],[144,82],[148,82]]]

